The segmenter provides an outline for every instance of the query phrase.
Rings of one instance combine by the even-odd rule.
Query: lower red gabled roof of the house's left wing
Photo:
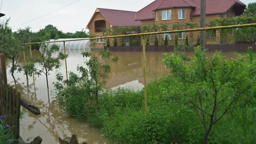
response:
[[[112,10],[106,8],[97,8],[95,12],[100,12],[104,16],[104,18],[111,24],[111,26],[140,26],[140,21],[134,20],[136,12],[126,10]],[[88,24],[90,24],[90,22]]]

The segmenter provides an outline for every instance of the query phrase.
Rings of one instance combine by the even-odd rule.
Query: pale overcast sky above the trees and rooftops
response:
[[[1,2],[2,0],[0,0]],[[154,0],[3,0],[1,13],[10,19],[13,31],[30,26],[33,32],[44,28],[48,24],[56,26],[63,32],[76,32],[85,28],[96,8],[110,8],[118,10],[138,11]],[[240,0],[245,4],[256,0]],[[62,8],[72,2],[70,6]],[[28,22],[54,10],[62,8],[52,14]],[[26,24],[20,25],[22,23]],[[20,25],[20,26],[17,26]],[[16,27],[14,27],[16,26]]]

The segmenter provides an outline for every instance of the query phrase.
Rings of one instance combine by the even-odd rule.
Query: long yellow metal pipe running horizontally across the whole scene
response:
[[[139,33],[139,34],[126,34],[126,35],[119,35],[119,36],[105,36],[105,37],[97,37],[97,38],[80,38],[76,40],[57,40],[53,42],[96,40],[96,39],[102,39],[102,38],[118,38],[118,37],[126,37],[126,36],[143,36],[143,35],[151,35],[151,34],[165,34],[165,33],[177,33],[177,32],[194,32],[194,31],[202,31],[202,30],[220,30],[220,29],[226,29],[226,28],[244,28],[244,27],[251,27],[251,26],[256,26],[256,23],[239,24],[239,25],[232,25],[232,26],[215,26],[215,27],[209,27],[209,28],[193,28],[193,29],[186,29],[186,30],[169,30],[169,31],[162,31],[162,32],[148,32],[148,33]],[[25,43],[25,44],[44,44],[44,43],[52,43],[52,42],[33,42],[33,43]]]

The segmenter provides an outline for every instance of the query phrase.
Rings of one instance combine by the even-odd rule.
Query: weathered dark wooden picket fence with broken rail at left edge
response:
[[[39,115],[40,110],[22,99],[18,90],[12,86],[8,86],[6,62],[3,54],[0,54],[0,64],[0,77],[2,78],[0,82],[0,116],[5,116],[6,123],[9,124],[14,133],[14,139],[20,140],[20,107],[23,106],[35,115]],[[19,142],[15,141],[15,144]]]

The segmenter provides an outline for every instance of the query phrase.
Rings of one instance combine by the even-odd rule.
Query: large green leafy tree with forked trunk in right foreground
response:
[[[170,68],[172,96],[180,104],[190,106],[204,129],[204,144],[212,127],[230,109],[253,102],[256,94],[256,63],[246,64],[244,57],[230,62],[216,52],[211,58],[198,46],[189,64],[174,54],[165,54],[164,64]],[[175,87],[175,88],[174,88]],[[232,111],[236,112],[236,111]]]

